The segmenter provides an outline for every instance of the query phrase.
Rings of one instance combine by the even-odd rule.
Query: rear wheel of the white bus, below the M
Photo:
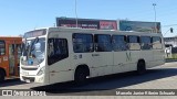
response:
[[[142,75],[142,74],[145,74],[146,73],[146,64],[144,61],[139,61],[137,63],[137,74],[138,75]]]

